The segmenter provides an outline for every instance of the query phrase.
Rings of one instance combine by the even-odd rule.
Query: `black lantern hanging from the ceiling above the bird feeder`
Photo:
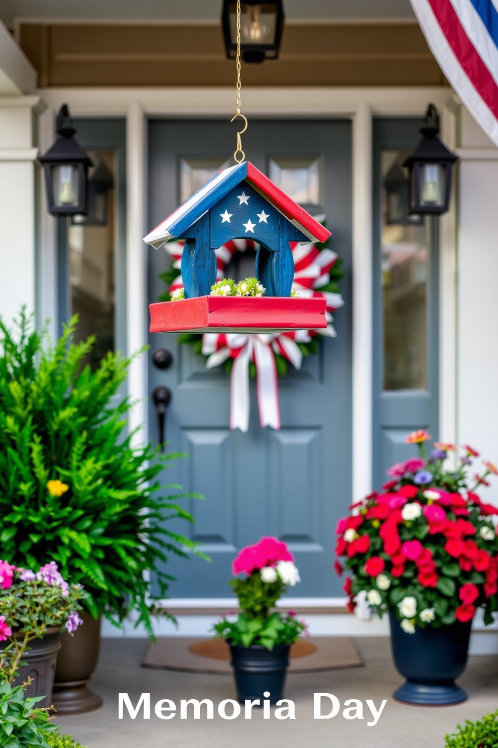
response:
[[[223,0],[226,56],[237,55],[237,0]],[[244,62],[276,60],[284,28],[282,0],[244,0],[240,4],[240,52]]]

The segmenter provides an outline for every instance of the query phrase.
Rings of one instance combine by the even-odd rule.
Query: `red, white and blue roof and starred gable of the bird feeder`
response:
[[[264,242],[273,249],[271,245],[278,234],[278,224],[281,224],[279,215],[293,224],[294,230],[287,232],[287,238],[291,241],[325,242],[330,236],[322,224],[261,171],[251,163],[243,162],[218,172],[161,221],[144,238],[144,242],[158,249],[169,239],[190,238],[190,228],[212,208],[220,213],[216,226],[211,221],[210,243],[213,248],[221,246],[228,239],[243,236]]]

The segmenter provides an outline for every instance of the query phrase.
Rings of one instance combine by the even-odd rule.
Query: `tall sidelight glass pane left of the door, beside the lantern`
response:
[[[115,156],[89,151],[88,213],[69,224],[69,284],[71,313],[78,313],[76,340],[96,334],[88,363],[96,367],[115,349],[115,215],[113,181]]]

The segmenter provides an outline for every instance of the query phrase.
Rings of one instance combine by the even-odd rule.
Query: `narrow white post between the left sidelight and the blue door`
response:
[[[126,117],[126,337],[129,356],[147,343],[146,118],[142,105],[132,103]],[[149,440],[147,428],[148,355],[134,359],[128,374],[128,396],[136,402],[130,430],[140,428],[135,443]]]

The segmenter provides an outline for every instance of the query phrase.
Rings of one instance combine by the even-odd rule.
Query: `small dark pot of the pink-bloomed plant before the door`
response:
[[[230,650],[240,703],[246,699],[260,699],[262,706],[265,698],[270,700],[270,704],[281,699],[289,665],[288,644],[278,644],[271,652],[261,644],[249,647],[230,645]],[[264,696],[265,692],[270,696]]]

